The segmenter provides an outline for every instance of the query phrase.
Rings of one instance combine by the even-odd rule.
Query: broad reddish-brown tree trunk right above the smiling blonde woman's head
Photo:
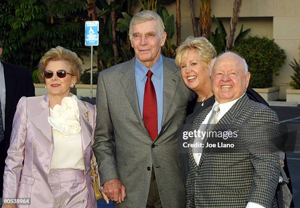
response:
[[[199,36],[209,39],[211,27],[211,0],[200,0]]]

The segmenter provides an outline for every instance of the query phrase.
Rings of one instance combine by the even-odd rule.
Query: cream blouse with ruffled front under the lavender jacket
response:
[[[50,169],[84,170],[81,126],[76,95],[64,97],[61,105],[50,108],[48,122],[52,127],[54,151]]]

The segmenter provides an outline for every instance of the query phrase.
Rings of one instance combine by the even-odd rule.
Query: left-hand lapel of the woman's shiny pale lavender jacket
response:
[[[39,114],[39,116],[32,118],[31,121],[35,127],[38,128],[51,143],[53,143],[52,128],[48,123],[48,117],[50,116],[48,94],[44,95],[44,98],[39,103],[39,106],[42,112]]]

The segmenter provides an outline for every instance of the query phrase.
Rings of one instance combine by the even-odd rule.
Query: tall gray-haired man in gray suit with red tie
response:
[[[98,78],[93,150],[103,191],[118,208],[185,207],[175,132],[193,93],[161,55],[166,36],[156,12],[137,13],[129,29],[135,57]]]

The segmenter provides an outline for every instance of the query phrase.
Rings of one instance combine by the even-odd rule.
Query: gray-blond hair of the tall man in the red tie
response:
[[[133,30],[133,24],[139,24],[139,23],[145,23],[150,20],[156,20],[157,22],[157,30],[158,30],[158,37],[161,39],[163,32],[165,31],[165,25],[161,19],[161,17],[153,11],[150,10],[143,10],[139,13],[136,13],[129,24],[129,38],[130,41],[132,41],[132,30]]]

